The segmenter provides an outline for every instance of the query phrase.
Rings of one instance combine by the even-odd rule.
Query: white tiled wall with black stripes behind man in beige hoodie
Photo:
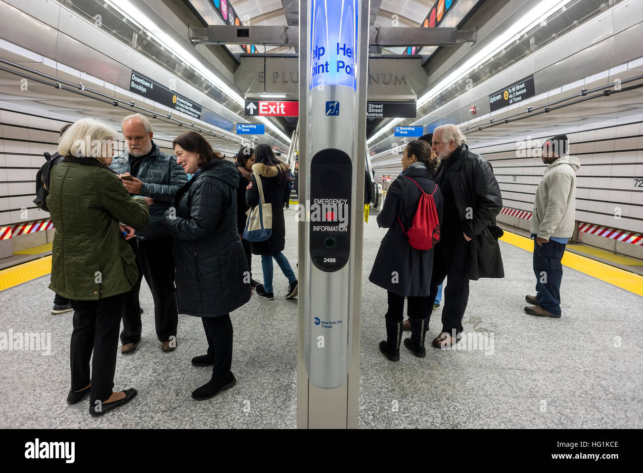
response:
[[[570,154],[581,161],[576,220],[643,232],[643,187],[635,188],[635,179],[643,179],[643,123],[568,133],[568,138]],[[504,206],[531,211],[545,172],[540,158],[517,159],[514,143],[476,148],[474,142],[470,147],[493,165]],[[617,207],[620,219],[615,218]],[[498,220],[510,223],[503,215]]]

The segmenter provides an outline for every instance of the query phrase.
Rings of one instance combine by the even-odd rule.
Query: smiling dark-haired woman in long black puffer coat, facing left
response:
[[[230,312],[250,299],[248,262],[237,233],[239,171],[197,132],[181,134],[172,146],[177,163],[194,177],[176,194],[176,215],[168,210],[162,224],[174,238],[179,314],[201,317],[208,339],[208,353],[192,364],[214,365],[210,382],[192,393],[202,400],[237,382],[230,371]]]

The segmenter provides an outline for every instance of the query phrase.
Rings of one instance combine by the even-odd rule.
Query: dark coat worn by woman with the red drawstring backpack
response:
[[[372,283],[390,290],[399,296],[428,296],[430,293],[431,273],[433,272],[433,249],[419,250],[411,247],[404,230],[413,224],[415,210],[422,192],[410,179],[418,183],[426,193],[433,194],[433,200],[442,220],[442,193],[426,166],[410,166],[397,177],[388,188],[384,206],[377,215],[377,225],[388,228],[379,245],[373,269],[368,276]]]

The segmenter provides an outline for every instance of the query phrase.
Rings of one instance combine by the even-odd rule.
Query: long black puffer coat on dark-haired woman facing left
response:
[[[250,299],[248,260],[237,232],[239,171],[213,159],[176,194],[176,217],[161,223],[174,238],[179,314],[218,317]],[[174,217],[174,218],[173,218]]]

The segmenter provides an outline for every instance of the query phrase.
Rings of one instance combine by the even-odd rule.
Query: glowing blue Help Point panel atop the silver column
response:
[[[357,89],[357,10],[355,1],[312,1],[309,90],[323,85]]]

